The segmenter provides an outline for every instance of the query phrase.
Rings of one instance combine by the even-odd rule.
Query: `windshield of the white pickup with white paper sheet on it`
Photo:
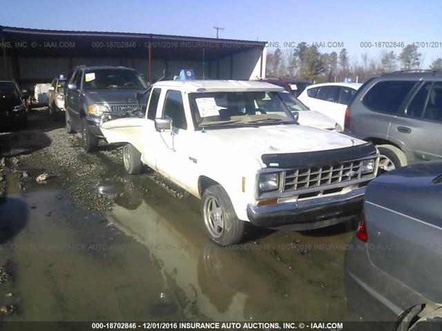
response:
[[[296,123],[277,92],[189,93],[197,128]]]

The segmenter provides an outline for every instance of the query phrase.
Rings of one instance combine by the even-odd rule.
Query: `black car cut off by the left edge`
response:
[[[26,126],[28,110],[15,81],[0,81],[0,126]]]

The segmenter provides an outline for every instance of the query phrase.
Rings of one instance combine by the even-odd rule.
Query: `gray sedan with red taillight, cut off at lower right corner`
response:
[[[416,163],[369,183],[365,216],[345,259],[347,299],[360,317],[406,321],[393,330],[442,330],[441,206],[441,161]],[[427,328],[423,319],[441,324]]]

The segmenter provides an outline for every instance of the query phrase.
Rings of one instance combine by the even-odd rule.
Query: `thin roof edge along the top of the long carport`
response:
[[[208,37],[189,37],[171,34],[151,34],[134,32],[110,32],[110,31],[73,31],[73,30],[45,30],[32,28],[18,28],[14,26],[0,26],[0,32],[22,33],[22,34],[46,34],[46,35],[68,35],[68,36],[91,36],[91,37],[126,37],[126,38],[147,38],[147,39],[173,39],[182,41],[204,41],[213,43],[243,43],[247,45],[265,46],[265,41],[250,41],[240,39],[216,39]]]

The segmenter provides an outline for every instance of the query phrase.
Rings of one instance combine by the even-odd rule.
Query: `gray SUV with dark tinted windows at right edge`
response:
[[[365,82],[345,113],[345,133],[375,143],[384,171],[442,159],[442,72],[393,72]]]

